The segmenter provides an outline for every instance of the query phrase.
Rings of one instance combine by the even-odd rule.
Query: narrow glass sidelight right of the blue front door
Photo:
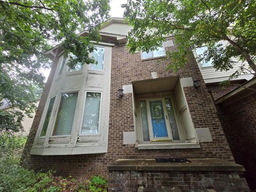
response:
[[[165,99],[165,103],[166,103],[166,108],[169,116],[169,122],[171,126],[173,140],[180,140],[171,100]]]

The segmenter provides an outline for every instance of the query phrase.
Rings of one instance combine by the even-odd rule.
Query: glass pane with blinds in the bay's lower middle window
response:
[[[53,136],[71,135],[78,92],[63,93],[60,99]]]

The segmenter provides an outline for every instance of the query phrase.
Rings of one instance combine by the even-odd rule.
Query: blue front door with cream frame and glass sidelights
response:
[[[143,141],[180,140],[173,99],[140,100]]]

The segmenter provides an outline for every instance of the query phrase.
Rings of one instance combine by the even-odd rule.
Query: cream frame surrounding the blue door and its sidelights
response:
[[[173,140],[172,129],[171,129],[171,125],[170,125],[170,122],[169,122],[169,116],[168,116],[168,113],[167,113],[165,99],[170,99],[170,101],[171,101],[171,105],[173,107],[174,119],[175,119],[175,122],[176,122],[176,125],[177,125],[178,134],[179,134],[179,140]],[[161,100],[162,105],[165,105],[165,107],[163,107],[164,115],[168,116],[167,121],[166,121],[166,117],[165,117],[165,124],[166,124],[167,133],[170,133],[170,138],[171,139],[166,139],[166,138],[155,139],[153,137],[154,136],[153,135],[153,126],[151,125],[149,101],[155,101],[155,100]],[[149,141],[144,141],[143,140],[143,128],[142,128],[142,118],[141,118],[141,109],[140,109],[140,102],[141,101],[146,102],[148,130],[149,130]],[[140,137],[138,137],[138,139],[140,138],[139,143],[150,143],[151,145],[154,145],[154,143],[164,143],[164,142],[175,143],[175,142],[183,142],[183,140],[185,140],[185,130],[183,128],[181,118],[179,117],[179,111],[177,110],[177,106],[176,106],[175,102],[176,101],[175,101],[175,98],[174,98],[173,91],[170,91],[169,93],[163,95],[162,97],[161,97],[161,95],[157,95],[156,97],[139,97],[139,98],[137,98],[137,111],[139,112],[139,114],[138,114],[139,118],[137,120],[137,124],[139,123],[139,125],[140,125],[140,127],[137,126],[137,129],[139,129],[138,131],[139,131],[139,134],[140,134]]]

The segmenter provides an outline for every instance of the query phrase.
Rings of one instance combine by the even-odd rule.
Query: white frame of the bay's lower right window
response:
[[[100,110],[99,110],[99,125],[98,125],[98,133],[94,134],[94,133],[91,133],[91,134],[82,134],[82,126],[83,126],[83,117],[84,117],[84,108],[85,108],[85,102],[86,102],[86,96],[87,96],[87,92],[90,92],[90,93],[100,93]],[[83,98],[83,108],[82,108],[82,115],[81,115],[81,122],[80,122],[80,125],[79,125],[79,132],[78,132],[78,136],[80,137],[83,137],[83,136],[99,136],[100,135],[100,131],[101,131],[101,108],[102,108],[102,91],[94,91],[94,90],[85,90],[84,91],[84,95],[85,97]]]

